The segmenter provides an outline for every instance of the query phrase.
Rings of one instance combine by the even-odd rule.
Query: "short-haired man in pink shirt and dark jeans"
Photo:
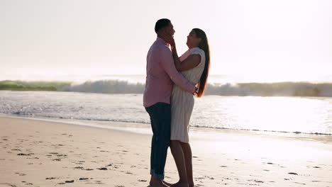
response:
[[[175,68],[172,52],[164,37],[173,36],[175,33],[170,20],[158,20],[155,23],[155,33],[157,40],[150,47],[147,56],[143,105],[150,115],[153,130],[150,185],[165,187],[163,179],[167,149],[170,145],[170,96],[173,82],[192,94],[196,88]]]

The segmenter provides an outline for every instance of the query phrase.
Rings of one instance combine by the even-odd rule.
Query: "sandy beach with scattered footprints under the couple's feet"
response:
[[[196,186],[332,186],[332,137],[192,132]],[[0,186],[148,186],[150,138],[0,118]],[[170,151],[166,181],[177,171]]]

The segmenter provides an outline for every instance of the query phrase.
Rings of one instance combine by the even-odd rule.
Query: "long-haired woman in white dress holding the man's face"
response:
[[[187,36],[189,50],[177,56],[174,40],[170,38],[175,67],[183,76],[197,84],[197,97],[204,94],[209,74],[210,52],[206,34],[194,28]],[[175,85],[171,97],[171,142],[170,149],[179,172],[179,182],[172,187],[194,186],[192,176],[192,149],[189,145],[189,120],[194,108],[194,96]]]

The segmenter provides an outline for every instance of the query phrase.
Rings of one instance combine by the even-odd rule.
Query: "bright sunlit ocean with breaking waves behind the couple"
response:
[[[23,86],[56,84],[57,88],[56,91],[2,90],[0,113],[104,128],[115,123],[147,128],[150,120],[143,108],[144,80],[140,75],[94,77],[85,81],[67,78],[70,81],[67,84],[60,84],[64,80],[14,81]],[[330,81],[236,83],[229,80],[223,76],[209,80],[206,95],[195,98],[191,127],[198,131],[230,129],[332,135]]]

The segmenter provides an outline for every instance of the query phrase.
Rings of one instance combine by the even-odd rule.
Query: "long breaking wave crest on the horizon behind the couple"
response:
[[[103,94],[143,94],[145,84],[120,80],[86,81],[64,86],[57,91]],[[332,83],[278,82],[208,84],[206,95],[218,96],[323,96],[332,97]]]

